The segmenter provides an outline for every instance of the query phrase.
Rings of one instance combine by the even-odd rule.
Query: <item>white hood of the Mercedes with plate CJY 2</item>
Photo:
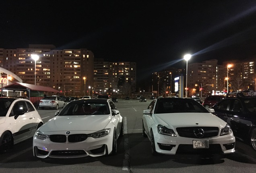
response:
[[[227,124],[211,113],[167,113],[155,114],[153,119],[157,125],[164,125],[170,129],[177,127],[219,127]]]

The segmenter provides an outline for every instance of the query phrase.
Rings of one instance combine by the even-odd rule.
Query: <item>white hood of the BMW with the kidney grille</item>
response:
[[[41,132],[99,131],[111,121],[110,115],[56,116],[40,127]]]

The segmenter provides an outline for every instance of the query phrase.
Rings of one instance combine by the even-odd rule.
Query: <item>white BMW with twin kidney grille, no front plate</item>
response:
[[[33,138],[39,158],[97,157],[117,153],[123,119],[109,99],[81,99],[68,103],[41,126]]]

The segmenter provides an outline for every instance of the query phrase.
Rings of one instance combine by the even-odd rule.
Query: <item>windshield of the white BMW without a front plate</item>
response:
[[[110,114],[106,102],[70,102],[58,116]]]

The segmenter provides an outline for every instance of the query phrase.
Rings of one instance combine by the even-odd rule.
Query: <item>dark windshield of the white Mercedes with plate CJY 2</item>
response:
[[[159,99],[155,113],[209,113],[200,103],[193,99]]]

